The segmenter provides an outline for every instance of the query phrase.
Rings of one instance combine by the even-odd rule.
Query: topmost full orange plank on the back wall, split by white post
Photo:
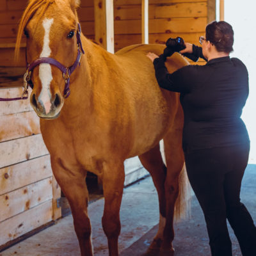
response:
[[[141,19],[140,6],[115,6],[115,20]],[[150,4],[149,19],[207,17],[207,3]]]

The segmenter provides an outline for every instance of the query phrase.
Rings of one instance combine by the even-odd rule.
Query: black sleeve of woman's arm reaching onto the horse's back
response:
[[[189,78],[191,68],[189,66],[179,68],[170,74],[164,65],[164,56],[161,54],[159,58],[154,60],[156,79],[161,88],[172,92],[189,92],[191,84]],[[191,80],[190,80],[191,81]]]

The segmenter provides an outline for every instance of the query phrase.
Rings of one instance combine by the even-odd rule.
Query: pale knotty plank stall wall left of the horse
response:
[[[22,88],[1,88],[0,97],[21,92]],[[0,249],[60,218],[59,197],[39,118],[29,100],[0,102]]]

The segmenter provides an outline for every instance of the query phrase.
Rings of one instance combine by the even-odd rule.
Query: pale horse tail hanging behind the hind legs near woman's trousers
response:
[[[184,164],[179,176],[179,195],[175,203],[174,219],[179,221],[191,214],[191,186],[189,184],[186,166]]]

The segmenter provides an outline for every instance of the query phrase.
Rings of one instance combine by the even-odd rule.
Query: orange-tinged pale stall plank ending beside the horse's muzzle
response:
[[[0,115],[0,142],[40,133],[40,119],[35,111]]]

